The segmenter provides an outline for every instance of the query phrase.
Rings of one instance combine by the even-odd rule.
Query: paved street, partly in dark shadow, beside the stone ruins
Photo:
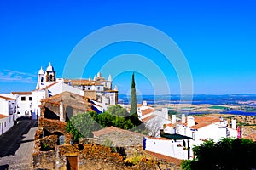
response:
[[[20,120],[0,136],[0,170],[31,169],[37,125],[37,121]]]

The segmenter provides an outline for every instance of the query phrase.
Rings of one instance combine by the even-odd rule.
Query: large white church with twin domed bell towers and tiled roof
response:
[[[87,79],[63,79],[55,77],[54,67],[49,66],[44,71],[43,67],[38,71],[38,83],[36,90],[32,91],[32,117],[40,116],[41,99],[46,99],[56,94],[70,92],[90,99],[97,112],[105,111],[108,105],[117,105],[118,90],[112,89],[112,79],[102,77],[101,73],[92,80]]]

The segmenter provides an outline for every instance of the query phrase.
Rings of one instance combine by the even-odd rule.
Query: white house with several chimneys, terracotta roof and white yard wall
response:
[[[145,139],[145,150],[160,153],[177,159],[190,159],[193,157],[193,147],[204,141],[213,139],[218,142],[224,137],[237,137],[236,120],[232,126],[222,119],[213,116],[181,116],[177,121],[172,116],[172,123],[166,124],[161,137]]]

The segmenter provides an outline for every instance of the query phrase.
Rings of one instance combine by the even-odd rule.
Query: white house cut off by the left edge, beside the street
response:
[[[9,130],[14,125],[16,119],[15,99],[0,95],[0,135]]]

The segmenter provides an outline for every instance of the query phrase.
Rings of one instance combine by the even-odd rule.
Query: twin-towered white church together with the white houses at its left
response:
[[[37,119],[40,116],[41,100],[64,92],[87,98],[92,109],[97,112],[106,110],[108,105],[117,105],[118,102],[118,89],[112,88],[110,75],[108,80],[101,73],[94,79],[56,78],[54,67],[49,63],[45,71],[43,67],[38,71],[35,90],[0,94],[0,135],[8,131],[20,116]]]

